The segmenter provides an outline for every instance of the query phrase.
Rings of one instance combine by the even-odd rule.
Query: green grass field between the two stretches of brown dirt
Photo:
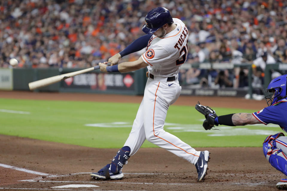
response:
[[[121,147],[129,136],[139,104],[84,101],[42,101],[0,98],[0,134],[97,148]],[[247,112],[213,108],[219,115]],[[262,109],[262,108],[258,108]],[[3,110],[30,114],[7,113]],[[192,147],[262,147],[279,126],[227,127],[205,131],[203,115],[194,107],[171,106],[164,129]],[[85,124],[125,122],[123,127],[89,127]],[[109,125],[109,124],[105,124]],[[143,147],[157,147],[147,141]]]

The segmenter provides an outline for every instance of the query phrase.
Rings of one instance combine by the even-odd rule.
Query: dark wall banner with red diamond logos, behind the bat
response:
[[[61,88],[83,90],[135,90],[134,73],[85,73],[65,79]]]

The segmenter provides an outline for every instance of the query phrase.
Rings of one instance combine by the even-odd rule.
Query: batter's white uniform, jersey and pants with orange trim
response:
[[[162,38],[153,35],[146,47],[146,53],[142,55],[143,60],[149,64],[149,73],[154,77],[148,78],[146,82],[144,98],[124,146],[131,148],[131,156],[148,140],[195,164],[200,152],[164,131],[167,110],[181,92],[178,72],[180,65],[186,60],[188,49],[187,27],[179,19],[174,18],[173,21],[176,28]],[[167,77],[173,76],[174,81],[167,81]]]

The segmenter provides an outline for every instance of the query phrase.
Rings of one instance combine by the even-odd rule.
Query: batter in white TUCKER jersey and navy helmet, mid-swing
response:
[[[209,161],[208,151],[196,151],[176,136],[164,131],[167,110],[181,92],[178,83],[178,72],[186,60],[188,50],[188,30],[180,19],[172,18],[169,10],[157,7],[145,17],[142,30],[147,35],[130,44],[120,53],[109,59],[111,66],[99,63],[103,72],[130,72],[147,67],[144,98],[138,109],[124,147],[100,171],[91,173],[92,178],[121,179],[124,164],[134,155],[145,140],[162,147],[175,155],[186,159],[196,166],[198,181],[204,179]],[[146,52],[137,61],[122,62],[122,56],[146,47]]]

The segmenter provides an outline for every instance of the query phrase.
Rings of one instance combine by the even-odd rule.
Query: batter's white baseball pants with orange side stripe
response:
[[[157,80],[148,78],[146,82],[144,98],[124,146],[131,148],[131,156],[147,139],[149,142],[195,164],[200,151],[196,151],[175,135],[164,131],[167,110],[177,100],[181,92],[178,78],[169,82],[167,82],[167,78],[155,79]]]

